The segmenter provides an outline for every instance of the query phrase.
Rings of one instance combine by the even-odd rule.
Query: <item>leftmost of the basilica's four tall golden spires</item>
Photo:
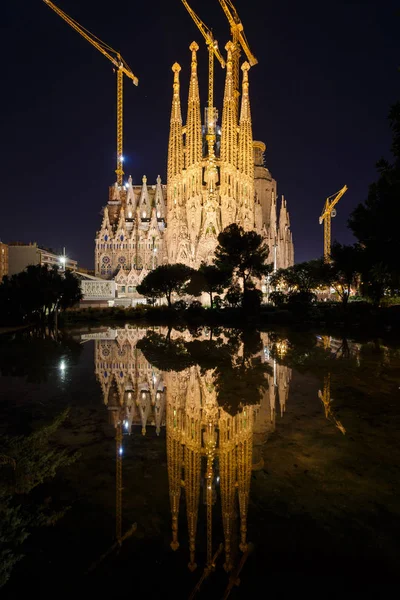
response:
[[[183,169],[182,111],[179,84],[180,70],[180,65],[174,63],[172,66],[172,71],[174,73],[174,92],[168,143],[168,184],[173,183],[173,179],[181,175]]]

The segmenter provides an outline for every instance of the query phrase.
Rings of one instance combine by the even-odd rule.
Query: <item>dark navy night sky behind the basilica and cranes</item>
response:
[[[189,2],[220,48],[229,27],[218,0]],[[234,0],[259,64],[250,70],[254,139],[290,211],[296,262],[320,256],[326,196],[349,191],[332,237],[352,243],[347,219],[366,198],[375,163],[390,157],[387,114],[400,99],[400,3],[395,0]],[[166,178],[171,65],[181,71],[186,117],[190,53],[201,100],[207,52],[180,0],[56,0],[113,48],[125,78],[125,172],[134,183]],[[5,2],[1,38],[0,239],[37,241],[93,268],[94,237],[115,181],[116,93],[112,65],[42,0]],[[216,65],[216,106],[224,74]],[[221,114],[221,113],[220,113]]]

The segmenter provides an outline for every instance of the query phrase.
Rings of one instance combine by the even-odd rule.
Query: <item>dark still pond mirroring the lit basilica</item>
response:
[[[0,375],[2,597],[395,585],[399,345],[23,332],[0,337]]]

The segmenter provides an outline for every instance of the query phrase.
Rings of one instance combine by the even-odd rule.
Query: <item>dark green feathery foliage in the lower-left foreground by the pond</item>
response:
[[[3,437],[0,442],[0,587],[23,558],[23,543],[37,527],[53,525],[65,509],[52,510],[49,502],[37,504],[30,492],[58,469],[73,463],[69,456],[50,444],[51,436],[67,417],[63,412],[53,423],[29,436]]]

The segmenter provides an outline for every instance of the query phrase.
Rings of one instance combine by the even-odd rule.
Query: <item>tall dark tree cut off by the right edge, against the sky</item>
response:
[[[386,291],[400,287],[400,102],[389,112],[394,161],[377,163],[378,180],[352,212],[348,225],[364,251],[364,292],[376,304]]]

